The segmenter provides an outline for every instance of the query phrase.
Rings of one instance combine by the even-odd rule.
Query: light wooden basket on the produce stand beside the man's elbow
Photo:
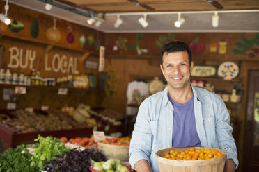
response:
[[[127,162],[130,159],[130,146],[128,145],[113,145],[98,142],[98,148],[107,159],[117,158],[122,162]]]

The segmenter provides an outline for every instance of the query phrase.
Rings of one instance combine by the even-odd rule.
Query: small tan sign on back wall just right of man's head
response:
[[[191,76],[196,77],[209,77],[209,76],[216,76],[217,69],[214,66],[194,66],[191,71]]]

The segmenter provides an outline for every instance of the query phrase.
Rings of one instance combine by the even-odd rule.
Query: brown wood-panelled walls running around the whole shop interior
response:
[[[4,2],[0,1],[0,6],[3,5]],[[79,74],[93,73],[96,76],[96,80],[98,80],[99,73],[97,70],[84,68],[86,58],[97,61],[98,51],[95,49],[95,44],[90,44],[87,41],[84,46],[81,46],[78,41],[81,35],[85,35],[86,37],[92,35],[94,42],[99,42],[106,49],[104,71],[108,73],[108,76],[113,75],[115,78],[113,87],[116,88],[116,92],[112,96],[105,95],[102,89],[72,89],[68,96],[57,96],[57,88],[31,87],[26,96],[19,96],[17,98],[17,107],[40,107],[40,105],[62,107],[64,105],[77,106],[78,103],[86,103],[93,107],[102,106],[125,113],[127,84],[130,81],[135,80],[137,76],[145,80],[151,80],[155,76],[163,79],[159,69],[161,48],[157,46],[157,42],[164,44],[171,40],[180,40],[190,44],[198,37],[199,41],[205,44],[205,50],[202,53],[193,55],[194,65],[219,66],[222,62],[233,61],[240,67],[240,74],[234,81],[225,82],[221,78],[217,78],[208,82],[216,85],[216,89],[228,89],[229,92],[233,89],[234,85],[240,85],[240,88],[244,89],[242,102],[239,107],[240,111],[236,114],[241,125],[237,146],[240,155],[239,158],[242,160],[244,121],[246,117],[246,92],[248,88],[247,76],[249,69],[259,68],[259,54],[255,53],[253,58],[249,58],[247,55],[253,52],[253,49],[258,48],[258,45],[254,45],[243,55],[236,55],[232,52],[232,49],[237,48],[237,42],[241,42],[242,37],[245,37],[246,41],[250,41],[255,39],[258,33],[102,33],[91,28],[57,19],[57,28],[61,32],[61,39],[58,42],[51,42],[47,40],[45,33],[48,28],[52,27],[52,17],[13,4],[10,4],[8,14],[12,19],[22,22],[25,27],[22,31],[13,33],[8,26],[0,22],[0,46],[3,46],[1,67],[5,69],[8,67],[8,63],[10,62],[10,48],[15,46],[19,50],[23,49],[22,62],[25,62],[26,50],[36,52],[36,60],[33,63],[33,67],[36,71],[40,71],[43,77],[56,78],[71,74],[71,71],[64,74],[61,71],[55,72],[45,69],[46,54],[49,60],[55,54],[58,54],[61,57],[65,55],[67,58],[72,57],[73,59],[77,59]],[[30,27],[35,18],[38,19],[40,32],[38,37],[33,38],[31,37]],[[68,44],[66,41],[68,26],[72,28],[74,35],[74,43],[72,44]],[[214,53],[210,52],[210,45],[215,43],[219,48],[219,41],[222,39],[227,42],[226,53],[219,54],[218,51]],[[141,53],[138,53],[137,49]],[[48,67],[51,66],[50,61],[48,61],[47,65]],[[29,75],[31,68],[27,67],[23,69],[16,67],[12,68],[11,71],[18,73],[24,72],[24,74]],[[2,97],[2,92],[0,96]],[[0,104],[0,108],[6,107],[6,101],[1,100]]]

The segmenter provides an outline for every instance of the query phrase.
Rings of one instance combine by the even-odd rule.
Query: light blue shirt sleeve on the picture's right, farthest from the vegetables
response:
[[[235,169],[237,169],[239,162],[237,160],[235,140],[232,136],[233,128],[230,125],[230,115],[221,98],[219,98],[218,104],[216,132],[219,140],[219,148],[226,150],[227,159],[232,159],[235,162]]]

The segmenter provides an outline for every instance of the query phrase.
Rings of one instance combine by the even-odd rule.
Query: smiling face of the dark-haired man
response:
[[[172,89],[184,89],[190,85],[191,71],[194,62],[189,65],[187,51],[164,53],[163,66],[160,65],[168,87]]]

